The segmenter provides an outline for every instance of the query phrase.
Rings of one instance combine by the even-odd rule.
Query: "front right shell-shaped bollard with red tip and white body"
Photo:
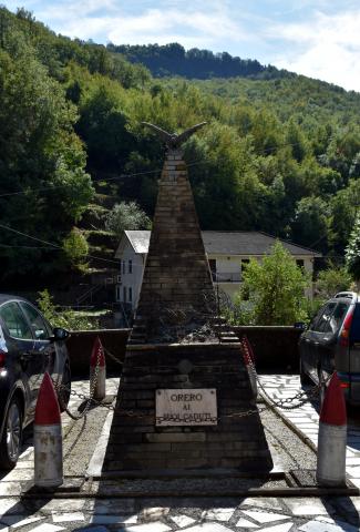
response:
[[[347,407],[337,372],[326,390],[319,419],[317,481],[320,485],[346,483]]]

